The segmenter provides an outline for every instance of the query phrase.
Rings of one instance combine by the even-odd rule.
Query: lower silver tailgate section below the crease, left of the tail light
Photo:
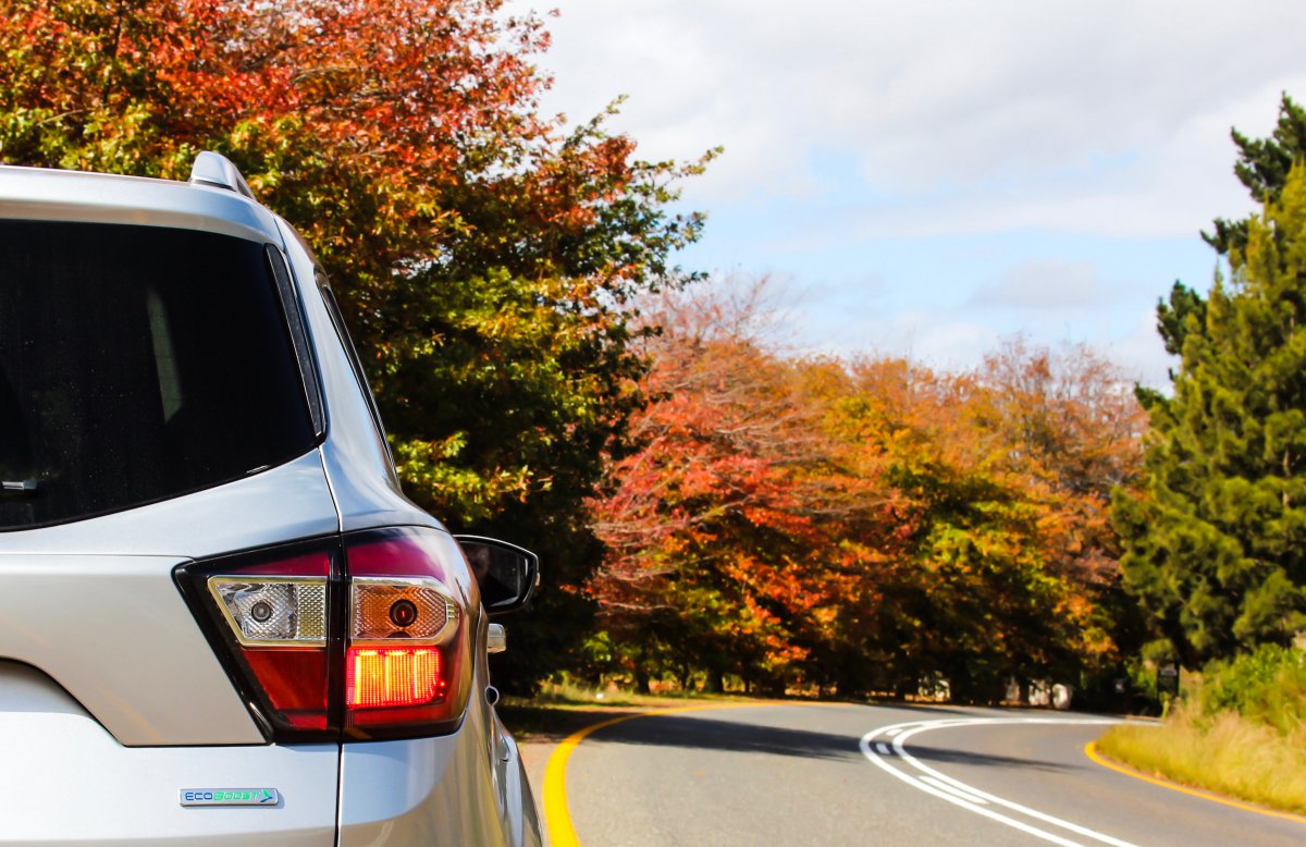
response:
[[[179,563],[0,554],[0,659],[50,674],[123,745],[261,744],[172,584]]]

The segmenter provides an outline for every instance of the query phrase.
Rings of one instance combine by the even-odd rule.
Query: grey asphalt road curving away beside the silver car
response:
[[[545,787],[555,844],[1306,844],[1306,822],[1221,805],[1085,753],[1106,719],[776,705],[594,731]],[[558,770],[558,769],[555,769]],[[537,782],[537,789],[539,783]],[[563,804],[560,804],[560,801]]]

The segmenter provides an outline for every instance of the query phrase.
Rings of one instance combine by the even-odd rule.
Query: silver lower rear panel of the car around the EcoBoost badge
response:
[[[0,844],[336,842],[334,744],[125,748],[48,677],[5,661],[0,733]],[[276,788],[281,797],[274,808],[182,806],[182,789],[205,788]]]

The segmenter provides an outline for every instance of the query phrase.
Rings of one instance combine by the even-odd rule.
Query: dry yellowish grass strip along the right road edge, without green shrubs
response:
[[[1097,749],[1147,774],[1306,813],[1306,728],[1284,735],[1237,712],[1207,716],[1181,703],[1160,725],[1110,728]]]

